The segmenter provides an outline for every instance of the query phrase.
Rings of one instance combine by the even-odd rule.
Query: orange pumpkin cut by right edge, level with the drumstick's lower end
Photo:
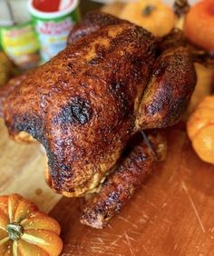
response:
[[[192,146],[199,157],[214,164],[214,95],[207,96],[187,124]]]

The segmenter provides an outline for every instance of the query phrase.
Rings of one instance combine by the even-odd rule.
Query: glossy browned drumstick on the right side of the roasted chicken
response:
[[[177,46],[164,51],[153,66],[151,81],[141,100],[137,126],[151,129],[176,123],[188,107],[194,84],[196,74],[187,48]]]

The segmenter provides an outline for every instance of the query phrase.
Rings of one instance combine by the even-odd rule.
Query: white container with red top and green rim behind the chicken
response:
[[[44,62],[62,51],[73,25],[79,21],[78,0],[30,0],[28,8]]]

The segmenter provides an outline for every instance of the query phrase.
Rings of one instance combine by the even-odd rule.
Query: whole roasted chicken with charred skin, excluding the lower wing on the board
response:
[[[176,33],[156,40],[140,26],[93,12],[73,27],[66,49],[7,96],[10,136],[30,133],[44,145],[46,181],[56,192],[94,192],[134,133],[178,122],[196,73]],[[154,148],[162,144],[153,141]]]

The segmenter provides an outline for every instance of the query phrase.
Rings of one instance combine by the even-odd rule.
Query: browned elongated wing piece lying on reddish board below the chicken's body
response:
[[[149,139],[159,159],[166,154],[166,141],[160,133],[150,134]],[[81,222],[92,228],[102,229],[142,185],[155,164],[154,155],[143,142],[138,143],[83,207]]]

